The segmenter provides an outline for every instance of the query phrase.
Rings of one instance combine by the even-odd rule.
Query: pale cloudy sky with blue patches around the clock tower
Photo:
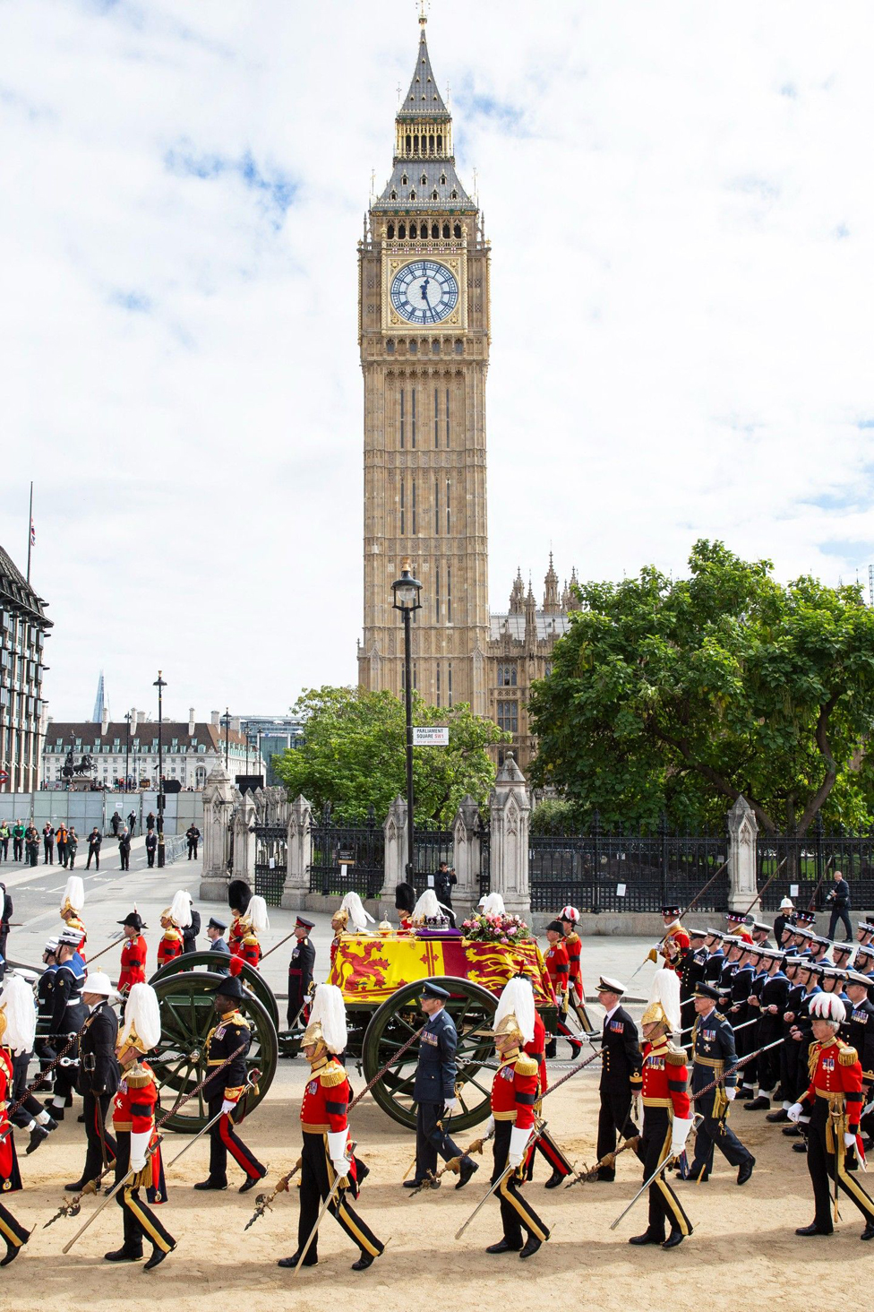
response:
[[[356,241],[413,0],[0,0],[0,542],[54,719],[354,682]],[[434,0],[516,568],[874,562],[869,0]]]

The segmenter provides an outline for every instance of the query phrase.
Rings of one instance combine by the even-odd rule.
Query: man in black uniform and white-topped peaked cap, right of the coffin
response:
[[[600,1099],[598,1114],[598,1160],[616,1149],[617,1134],[633,1139],[638,1128],[632,1118],[632,1096],[639,1093],[641,1054],[637,1026],[621,1005],[625,985],[620,980],[601,975],[598,981],[598,1001],[604,1008],[601,1031]],[[616,1179],[612,1166],[601,1166],[599,1179]]]

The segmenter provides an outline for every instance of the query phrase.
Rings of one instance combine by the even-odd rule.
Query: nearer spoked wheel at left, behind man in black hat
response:
[[[169,964],[169,963],[168,963]],[[214,1006],[215,985],[224,976],[202,971],[186,971],[157,980],[161,1009],[161,1042],[148,1059],[162,1090],[162,1111],[173,1106],[181,1093],[190,1093],[207,1076],[206,1039],[219,1023]],[[258,1093],[246,1096],[249,1109],[257,1106],[273,1084],[276,1073],[276,1027],[266,1008],[257,997],[240,1002],[240,1012],[252,1026],[252,1046],[246,1055],[246,1068],[257,1068]],[[165,1130],[197,1134],[208,1120],[208,1107],[203,1090],[195,1094],[165,1122]]]

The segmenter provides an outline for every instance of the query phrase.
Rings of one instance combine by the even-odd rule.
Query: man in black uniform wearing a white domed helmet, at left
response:
[[[85,1165],[72,1185],[64,1185],[69,1194],[77,1194],[89,1181],[97,1179],[105,1166],[113,1165],[117,1144],[106,1131],[106,1117],[118,1089],[118,1017],[109,1005],[114,993],[111,980],[102,971],[92,971],[85,980],[83,1001],[90,1010],[85,1029],[79,1036],[79,1078],[76,1089],[83,1096],[85,1118]]]

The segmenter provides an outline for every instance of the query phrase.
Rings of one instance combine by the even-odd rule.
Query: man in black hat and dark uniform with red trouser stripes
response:
[[[259,1179],[267,1174],[256,1155],[244,1144],[235,1131],[235,1113],[238,1110],[240,1098],[248,1081],[246,1054],[252,1043],[252,1034],[246,1018],[237,1010],[245,998],[240,975],[233,974],[236,968],[242,968],[242,959],[235,956],[231,963],[231,975],[216,984],[215,1009],[219,1014],[219,1023],[214,1025],[206,1040],[206,1064],[220,1067],[225,1057],[233,1052],[236,1056],[224,1071],[212,1076],[203,1089],[203,1096],[208,1103],[208,1119],[221,1115],[210,1130],[210,1174],[202,1179],[195,1189],[227,1189],[228,1187],[228,1153],[233,1157],[245,1179],[240,1185],[240,1193],[246,1194]],[[242,1052],[237,1048],[242,1044]],[[245,1107],[242,1109],[245,1114]],[[241,1118],[240,1118],[241,1119]]]

